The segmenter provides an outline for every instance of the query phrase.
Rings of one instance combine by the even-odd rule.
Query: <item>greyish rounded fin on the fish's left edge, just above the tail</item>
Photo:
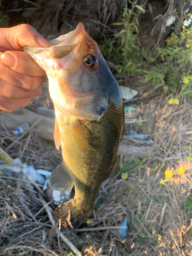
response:
[[[51,173],[49,185],[59,191],[69,191],[72,189],[74,182],[68,173],[65,162],[61,162]]]

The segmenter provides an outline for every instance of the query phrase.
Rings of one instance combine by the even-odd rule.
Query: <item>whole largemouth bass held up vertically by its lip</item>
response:
[[[50,42],[50,48],[24,51],[46,71],[55,108],[55,145],[61,145],[63,162],[50,186],[66,191],[75,186],[74,199],[54,212],[66,227],[91,216],[101,183],[119,172],[124,108],[119,86],[82,23]]]

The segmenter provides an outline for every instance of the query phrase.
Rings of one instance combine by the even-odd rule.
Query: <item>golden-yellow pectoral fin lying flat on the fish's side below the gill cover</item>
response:
[[[73,137],[80,149],[80,151],[87,156],[88,154],[88,139],[86,133],[82,129],[81,123],[76,119],[75,123],[70,124]]]

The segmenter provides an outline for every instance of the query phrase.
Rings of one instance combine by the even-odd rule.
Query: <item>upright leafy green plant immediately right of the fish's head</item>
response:
[[[118,65],[119,73],[128,73],[134,76],[136,73],[142,73],[143,52],[140,52],[138,15],[145,10],[138,6],[135,2],[129,1],[132,9],[124,8],[121,22],[114,23],[114,26],[122,28],[118,33],[114,34],[114,38],[104,38],[100,42],[100,49],[104,56],[115,60]],[[137,10],[137,13],[134,11]],[[114,54],[115,53],[115,54]]]

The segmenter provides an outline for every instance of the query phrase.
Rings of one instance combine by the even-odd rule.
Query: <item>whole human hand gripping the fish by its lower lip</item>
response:
[[[0,28],[0,110],[11,113],[41,94],[46,73],[25,52],[24,46],[50,47],[33,27],[22,24]]]

